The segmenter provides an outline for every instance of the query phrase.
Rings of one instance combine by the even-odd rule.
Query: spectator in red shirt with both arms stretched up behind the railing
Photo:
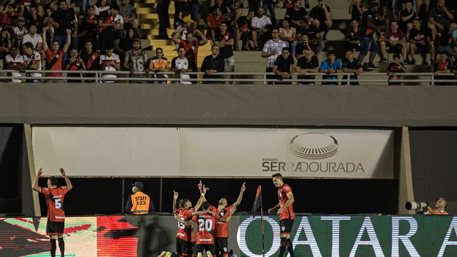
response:
[[[66,51],[69,50],[70,43],[71,43],[71,30],[67,29],[66,30],[66,43],[64,45],[63,49],[60,49],[59,46],[59,41],[57,39],[53,39],[51,41],[51,48],[48,48],[48,44],[46,43],[46,32],[43,32],[43,50],[44,53],[46,54],[46,71],[61,71],[62,69],[62,64],[64,60],[64,54]],[[46,74],[46,76],[51,76],[55,77],[56,79],[50,79],[47,80],[46,82],[52,83],[52,82],[62,82],[61,78],[62,74],[61,73],[49,73]]]

